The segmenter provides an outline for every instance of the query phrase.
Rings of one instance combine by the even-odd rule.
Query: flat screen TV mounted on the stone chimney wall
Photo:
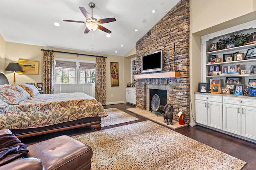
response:
[[[163,51],[158,50],[154,53],[142,56],[142,72],[162,71]]]

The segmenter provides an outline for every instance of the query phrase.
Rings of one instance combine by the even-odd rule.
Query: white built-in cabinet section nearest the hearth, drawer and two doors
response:
[[[196,94],[196,123],[222,130],[222,96]]]

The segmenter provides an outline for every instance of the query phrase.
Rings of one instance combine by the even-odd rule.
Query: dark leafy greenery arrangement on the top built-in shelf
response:
[[[250,38],[250,34],[244,33],[232,33],[229,34],[227,37],[223,37],[217,43],[217,49],[222,50],[225,49],[225,45],[227,43],[236,43],[236,47],[245,45]]]

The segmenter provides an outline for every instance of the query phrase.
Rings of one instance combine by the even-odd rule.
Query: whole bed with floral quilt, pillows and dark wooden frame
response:
[[[18,138],[91,126],[101,128],[102,104],[84,93],[40,94],[36,87],[8,83],[0,73],[0,129]]]

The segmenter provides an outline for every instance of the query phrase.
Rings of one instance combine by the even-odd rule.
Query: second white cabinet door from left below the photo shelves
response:
[[[208,126],[223,129],[222,103],[208,102]]]

